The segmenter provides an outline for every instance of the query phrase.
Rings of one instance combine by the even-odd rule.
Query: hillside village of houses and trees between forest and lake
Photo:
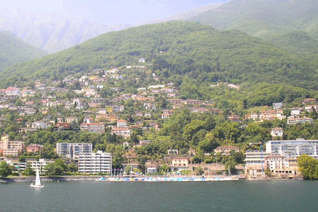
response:
[[[285,136],[286,130],[292,131],[289,125],[306,128],[316,121],[316,99],[304,98],[295,102],[298,107],[292,108],[286,108],[284,102],[276,102],[265,110],[255,108],[248,111],[252,113],[246,111],[240,116],[215,107],[217,104],[213,100],[184,99],[178,86],[173,82],[165,83],[151,72],[151,63],[145,58],[136,64],[74,73],[61,80],[36,79],[27,87],[0,89],[1,160],[13,165],[15,173],[40,168],[45,174],[47,164],[62,158],[67,164],[74,165],[73,174],[116,174],[116,170],[118,174],[131,165],[137,173],[163,172],[163,167],[169,166],[168,170],[175,174],[188,174],[185,170],[191,169],[207,175],[225,173],[230,166],[232,172],[254,178],[300,175],[296,157],[304,154],[301,145],[307,146],[306,154],[318,159],[318,140],[312,140],[317,138],[309,135],[310,142],[298,137],[288,141],[286,138],[290,137]],[[140,76],[132,73],[144,73],[149,83],[142,87]],[[136,83],[140,83],[137,89],[133,87]],[[225,82],[209,87],[241,89],[240,85]],[[213,145],[203,146],[208,131],[217,128],[214,124],[209,130],[206,128],[199,142],[194,142],[193,136],[202,133],[202,126],[192,129],[189,135],[192,145],[168,145],[173,134],[161,129],[167,130],[168,120],[182,113],[190,114],[191,123],[196,116],[204,117],[206,121],[208,117],[215,120],[221,117],[222,126],[231,126],[237,131],[263,123],[264,136],[252,142],[238,143],[223,131],[224,139],[220,134],[220,139]],[[246,136],[254,133],[253,130],[245,131]],[[231,133],[236,136],[234,131]],[[187,137],[185,132],[182,135]],[[294,145],[296,139],[300,152],[282,152],[273,147],[279,140]],[[149,145],[152,145],[151,150]],[[109,153],[112,157],[109,160],[107,156],[105,168],[87,162],[88,155]]]

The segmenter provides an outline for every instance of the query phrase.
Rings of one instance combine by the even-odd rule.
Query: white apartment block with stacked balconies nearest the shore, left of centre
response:
[[[111,153],[80,153],[78,157],[79,173],[109,173],[111,174],[112,155]]]

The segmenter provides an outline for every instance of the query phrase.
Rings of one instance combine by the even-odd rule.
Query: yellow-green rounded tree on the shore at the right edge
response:
[[[318,179],[318,161],[309,155],[301,155],[297,163],[305,180]]]

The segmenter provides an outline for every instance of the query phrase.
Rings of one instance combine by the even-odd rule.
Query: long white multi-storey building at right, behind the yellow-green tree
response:
[[[266,143],[266,152],[271,155],[282,155],[286,158],[309,155],[318,159],[318,140],[298,138],[296,140],[268,141]]]

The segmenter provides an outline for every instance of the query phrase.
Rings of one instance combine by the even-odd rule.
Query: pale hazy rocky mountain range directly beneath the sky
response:
[[[129,25],[108,26],[85,18],[66,17],[56,13],[35,14],[0,9],[0,30],[9,31],[35,47],[58,52],[97,35],[121,30]]]

